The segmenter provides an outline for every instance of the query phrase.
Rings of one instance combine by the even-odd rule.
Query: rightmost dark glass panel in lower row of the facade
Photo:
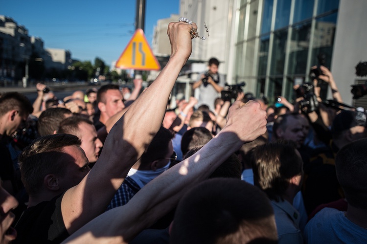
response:
[[[311,66],[318,65],[318,55],[325,55],[325,66],[330,67],[338,13],[316,19]]]

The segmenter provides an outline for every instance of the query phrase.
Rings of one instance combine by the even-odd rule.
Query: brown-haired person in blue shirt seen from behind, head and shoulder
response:
[[[258,146],[253,151],[253,181],[272,202],[279,244],[301,244],[300,216],[293,200],[302,185],[302,159],[297,149],[285,142]]]

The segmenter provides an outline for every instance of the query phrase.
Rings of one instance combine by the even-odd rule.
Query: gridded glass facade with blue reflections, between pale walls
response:
[[[233,82],[251,82],[270,103],[292,100],[319,54],[331,67],[338,8],[339,0],[237,0]]]

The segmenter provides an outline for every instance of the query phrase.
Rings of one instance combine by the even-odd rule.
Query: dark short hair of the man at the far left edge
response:
[[[20,116],[33,112],[29,99],[19,92],[6,92],[0,97],[0,117],[11,110],[18,110]]]

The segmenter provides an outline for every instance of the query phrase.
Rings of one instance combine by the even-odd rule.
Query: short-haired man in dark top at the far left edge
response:
[[[17,131],[28,115],[32,113],[33,107],[23,94],[8,92],[0,97],[0,177],[3,188],[11,194],[17,192],[15,168],[7,145],[10,136]]]

